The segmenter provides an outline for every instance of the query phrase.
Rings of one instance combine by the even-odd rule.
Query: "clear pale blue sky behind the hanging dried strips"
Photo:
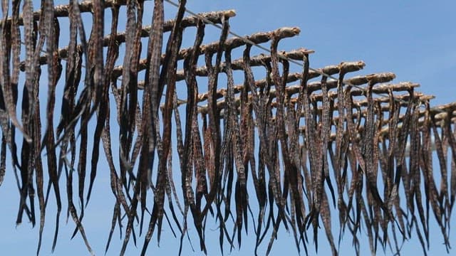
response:
[[[36,7],[39,6],[38,1],[34,1],[34,4]],[[272,31],[283,26],[298,26],[301,28],[301,34],[298,37],[281,41],[279,50],[293,50],[301,47],[315,50],[316,53],[311,55],[310,59],[312,68],[338,64],[341,61],[363,60],[366,63],[366,68],[357,75],[393,72],[397,76],[395,82],[418,82],[421,85],[418,90],[435,95],[436,99],[432,100],[432,105],[456,100],[452,75],[456,68],[455,1],[213,0],[188,1],[187,9],[194,12],[234,9],[237,16],[230,19],[230,25],[232,31],[240,35]],[[174,6],[165,4],[167,18],[173,18],[175,11]],[[106,13],[108,14],[109,11]],[[151,15],[152,2],[146,4],[143,19],[145,24],[150,23]],[[109,31],[109,23],[106,26],[105,33]],[[125,26],[125,23],[126,21],[120,24],[120,31],[123,31],[122,26]],[[63,33],[65,33],[63,25],[61,26]],[[188,33],[194,34],[192,31]],[[204,43],[215,41],[218,37],[219,31],[216,28],[207,28]],[[167,37],[165,37],[166,39]],[[194,36],[185,36],[183,46],[191,46],[193,41]],[[62,42],[62,44],[65,43]],[[269,45],[264,46],[269,47]],[[258,53],[260,52],[258,51]],[[234,58],[236,57],[234,56]],[[292,69],[300,70],[299,67],[292,67]],[[257,78],[259,77],[257,76]],[[58,102],[56,106],[59,106]],[[115,139],[117,135],[113,132],[112,136]],[[117,159],[115,160],[117,161]],[[110,192],[109,171],[105,161],[101,160],[98,166],[99,171],[97,180],[95,180],[93,196],[88,205],[83,224],[93,250],[97,255],[103,255],[115,198]],[[177,187],[180,185],[177,184]],[[63,197],[66,198],[64,187],[62,192]],[[254,193],[251,194],[251,197],[254,198]],[[0,208],[0,248],[2,248],[2,254],[35,254],[38,227],[31,228],[31,225],[26,222],[16,227],[19,193],[11,166],[6,170],[4,183],[0,186],[0,198],[2,201]],[[53,199],[53,195],[51,195],[41,255],[51,254],[55,218]],[[251,204],[252,207],[257,206],[255,200],[251,200]],[[54,255],[87,255],[88,252],[79,235],[70,240],[74,224],[73,220],[69,220],[68,224],[65,223],[65,212],[66,204],[64,203],[60,238]],[[333,212],[333,214],[335,213]],[[147,216],[146,219],[148,221]],[[191,218],[189,219],[191,220]],[[452,220],[454,224],[454,215]],[[192,228],[192,224],[189,224]],[[443,254],[445,247],[442,245],[442,235],[437,229],[433,217],[431,218],[431,225],[429,255]],[[210,225],[207,227],[208,255],[220,254],[218,230],[216,229],[215,223],[212,227]],[[249,237],[244,235],[242,251],[234,250],[231,255],[252,255],[255,241],[253,230],[249,230],[249,234]],[[334,228],[333,234],[337,238],[338,228]],[[456,235],[454,230],[451,234],[450,238],[454,238]],[[319,238],[318,254],[327,255],[330,250],[326,236],[324,233],[320,233]],[[189,243],[185,242],[183,255],[202,255],[202,252],[198,250],[197,237],[194,237],[192,242],[195,252],[192,252]],[[140,250],[136,249],[132,243],[132,239],[130,239],[127,255],[138,255]],[[107,255],[117,255],[121,244],[122,240],[119,240],[119,232],[116,229]],[[312,243],[309,245],[311,245],[309,255],[315,255]],[[452,245],[455,245],[455,242]],[[142,238],[138,240],[138,247],[142,247]],[[154,235],[147,255],[176,255],[178,247],[179,240],[172,237],[170,229],[164,223],[160,248],[156,246]],[[267,241],[261,245],[260,255],[266,251],[266,247]],[[361,241],[361,250],[365,252],[363,254],[369,254],[367,240]],[[349,235],[346,235],[341,243],[340,251],[341,255],[354,253]],[[225,253],[227,252],[225,250]],[[411,241],[405,243],[402,252],[404,255],[423,254],[415,234]],[[452,252],[455,253],[455,250]],[[286,233],[285,230],[279,231],[279,239],[274,243],[271,251],[271,255],[281,254],[297,255],[292,235]],[[387,250],[385,254],[390,255],[391,252]],[[383,255],[382,250],[378,250],[378,255]]]

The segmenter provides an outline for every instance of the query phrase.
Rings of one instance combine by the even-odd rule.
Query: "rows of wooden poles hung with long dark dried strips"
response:
[[[248,229],[248,212],[256,247],[269,237],[266,252],[281,227],[291,230],[296,247],[303,246],[307,252],[311,226],[317,247],[321,222],[336,255],[331,213],[338,215],[339,242],[348,230],[358,254],[362,226],[373,254],[378,245],[398,252],[412,233],[426,252],[431,215],[440,226],[445,246],[450,246],[450,215],[456,196],[456,103],[431,107],[432,97],[417,92],[418,85],[389,84],[395,78],[392,73],[346,78],[361,70],[363,62],[311,69],[313,51],[277,50],[279,41],[296,36],[299,28],[229,38],[229,18],[234,11],[185,17],[185,3],[180,1],[174,20],[164,21],[163,0],[155,0],[152,25],[143,26],[142,0],[70,1],[64,6],[42,0],[41,9],[35,12],[31,0],[13,0],[11,10],[9,1],[2,1],[0,184],[8,148],[12,168],[20,173],[17,223],[25,214],[35,225],[35,193],[38,197],[38,252],[51,189],[58,206],[53,247],[56,245],[63,171],[66,213],[76,223],[74,235],[80,233],[92,252],[83,216],[97,174],[100,143],[115,197],[106,250],[115,227],[126,223],[121,255],[130,237],[136,240],[135,223],[140,224],[140,235],[147,226],[144,255],[153,233],[160,240],[164,216],[171,227],[177,227],[181,249],[187,221],[193,220],[204,252],[206,220],[215,218],[223,251],[224,241],[234,247],[235,236],[241,244],[242,229]],[[126,32],[118,31],[121,6],[126,10]],[[105,11],[112,17],[107,33],[103,31],[108,22]],[[83,12],[93,14],[88,39]],[[69,20],[69,38],[60,35],[63,17]],[[219,23],[221,34],[219,41],[203,45],[208,22]],[[188,27],[197,30],[195,43],[182,48],[182,33]],[[164,45],[166,32],[170,33]],[[148,38],[146,56],[141,56],[145,47],[141,38]],[[58,48],[60,41],[68,41],[68,47]],[[252,43],[269,43],[271,54],[252,57]],[[235,48],[244,50],[239,60],[232,60]],[[123,58],[123,65],[115,66],[118,58]],[[205,65],[198,67],[202,58]],[[302,72],[290,73],[291,61],[301,63]],[[183,70],[177,70],[179,62],[183,62]],[[43,65],[48,74],[46,105],[38,97]],[[266,77],[255,79],[252,67],[264,68]],[[142,70],[143,77],[139,75]],[[244,74],[241,85],[234,84],[235,70]],[[23,85],[19,85],[21,72]],[[226,75],[226,85],[219,82],[221,73]],[[207,77],[207,82],[199,77]],[[61,99],[56,98],[58,82],[64,84]],[[178,100],[177,91],[187,92],[187,98]],[[20,120],[16,113],[19,100]],[[115,102],[116,110],[110,109],[110,102]],[[61,109],[57,125],[53,122],[56,107]],[[111,111],[115,111],[116,122],[110,121]],[[88,125],[90,119],[96,119],[94,129]],[[119,127],[114,139],[119,144],[118,161],[113,157],[110,125]],[[22,142],[16,141],[18,130]],[[93,139],[91,151],[89,139]],[[433,149],[440,172],[433,169]],[[174,150],[179,157],[177,169],[172,167]],[[181,189],[173,181],[179,176],[176,183]],[[73,201],[73,178],[77,178],[81,208]],[[249,186],[254,194],[249,195]],[[251,208],[252,198],[257,202]],[[148,225],[144,224],[146,210],[150,212]]]

